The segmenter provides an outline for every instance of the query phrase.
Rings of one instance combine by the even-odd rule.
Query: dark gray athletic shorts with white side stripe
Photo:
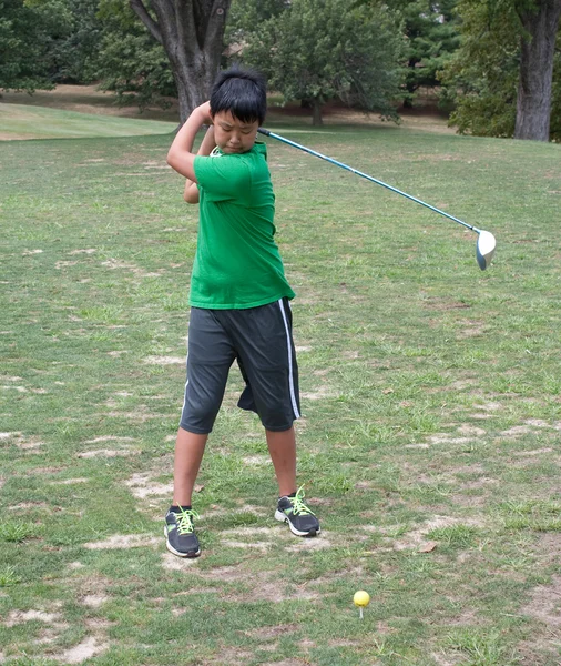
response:
[[[290,428],[300,405],[288,299],[246,310],[191,309],[180,426],[212,431],[234,361],[246,383],[238,407],[256,412],[269,431]]]

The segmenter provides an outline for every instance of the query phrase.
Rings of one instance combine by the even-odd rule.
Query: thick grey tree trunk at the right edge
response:
[[[561,0],[539,0],[520,14],[522,37],[514,139],[549,141],[551,85]]]

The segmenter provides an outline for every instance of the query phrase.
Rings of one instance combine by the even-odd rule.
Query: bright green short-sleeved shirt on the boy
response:
[[[274,241],[275,195],[267,149],[197,155],[198,238],[190,303],[213,310],[266,305],[294,297]]]

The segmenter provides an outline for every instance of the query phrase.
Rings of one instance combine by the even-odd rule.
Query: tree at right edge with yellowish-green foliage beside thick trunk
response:
[[[460,1],[462,43],[441,72],[456,103],[450,121],[460,132],[559,138],[550,124],[561,103],[554,94],[561,67],[553,69],[561,12],[548,13],[542,4],[561,8],[561,0]]]

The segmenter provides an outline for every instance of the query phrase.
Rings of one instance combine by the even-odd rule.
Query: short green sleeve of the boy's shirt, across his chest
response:
[[[212,201],[239,199],[251,185],[249,167],[239,155],[197,155],[194,170],[198,185]]]

